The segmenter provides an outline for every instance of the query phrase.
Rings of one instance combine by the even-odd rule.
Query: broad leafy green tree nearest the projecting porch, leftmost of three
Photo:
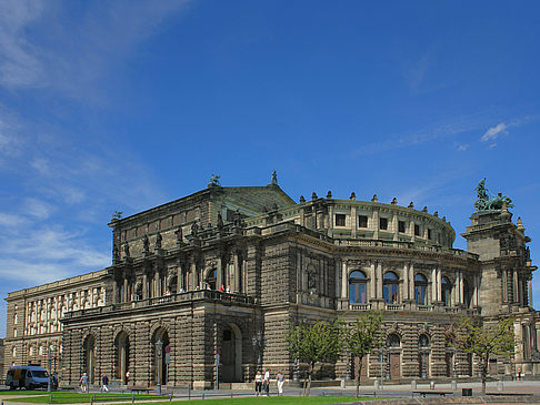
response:
[[[287,334],[289,354],[309,365],[308,378],[304,381],[304,395],[310,394],[311,376],[316,364],[338,360],[341,353],[341,325],[338,320],[289,325]]]

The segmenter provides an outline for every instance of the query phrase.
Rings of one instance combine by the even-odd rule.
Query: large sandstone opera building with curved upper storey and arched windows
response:
[[[286,350],[289,323],[374,308],[384,314],[386,378],[473,376],[476,358],[444,337],[462,315],[514,316],[522,347],[493,358],[490,373],[540,374],[530,239],[506,207],[471,216],[468,251],[452,249],[444,217],[412,203],[313,193],[297,204],[273,182],[210,184],[109,225],[111,266],[9,294],[7,364],[51,358],[63,386],[87,372],[94,383],[108,374],[203,388],[219,354],[222,383],[251,381],[259,367],[293,378],[304,365]],[[343,355],[317,376],[351,377],[357,363]],[[362,374],[380,373],[373,353]]]

